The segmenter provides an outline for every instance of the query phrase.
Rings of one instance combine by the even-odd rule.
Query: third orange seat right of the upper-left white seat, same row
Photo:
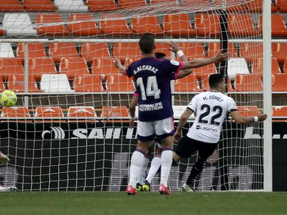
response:
[[[111,19],[111,16],[102,15],[100,29],[107,36],[127,36],[132,33],[130,28],[128,28],[127,21],[124,18],[121,19],[121,15],[116,15],[116,19]]]

